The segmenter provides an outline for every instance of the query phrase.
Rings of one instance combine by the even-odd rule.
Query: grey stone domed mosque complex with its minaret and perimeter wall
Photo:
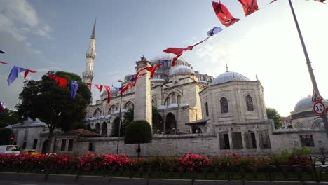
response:
[[[94,76],[95,24],[86,51],[86,71],[82,75],[85,83],[92,83]],[[312,111],[311,97],[299,100],[291,115],[284,118],[283,127],[275,129],[273,121],[266,116],[264,88],[259,79],[252,81],[228,67],[213,78],[194,70],[182,57],[171,67],[172,57],[161,55],[149,61],[141,57],[136,62],[136,72],[163,60],[168,62],[156,69],[153,78],[149,78],[149,73],[139,78],[137,85],[122,96],[112,88],[110,104],[107,104],[107,92],[102,93],[100,100],[90,104],[86,115],[87,127],[95,129],[97,134],[82,130],[58,133],[53,144],[55,153],[91,151],[136,156],[135,144],[124,144],[122,137],[111,137],[114,119],[132,106],[135,119],[149,123],[151,107],[158,109],[159,123],[151,123],[153,139],[151,143],[142,144],[142,156],[184,153],[217,156],[226,152],[256,156],[302,146],[317,153],[328,151],[328,138],[322,119]],[[121,85],[133,77],[134,74],[126,75]],[[328,102],[323,102],[328,107]],[[41,135],[38,139],[41,151],[48,137]]]

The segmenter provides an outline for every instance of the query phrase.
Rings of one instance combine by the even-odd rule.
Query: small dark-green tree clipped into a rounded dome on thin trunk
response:
[[[138,144],[138,158],[140,158],[140,143],[150,143],[151,126],[145,120],[132,121],[126,130],[124,143],[125,144]]]

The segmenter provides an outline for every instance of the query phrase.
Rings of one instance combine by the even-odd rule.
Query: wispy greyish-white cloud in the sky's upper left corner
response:
[[[36,34],[51,39],[51,28],[41,20],[34,8],[26,0],[3,0],[0,3],[0,32],[11,34],[17,41],[26,41],[28,34]],[[32,48],[32,52],[41,54]]]

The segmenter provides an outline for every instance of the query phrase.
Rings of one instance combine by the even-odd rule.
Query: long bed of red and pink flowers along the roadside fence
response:
[[[2,169],[21,169],[21,170],[47,170],[54,172],[55,170],[78,170],[79,172],[95,172],[111,169],[130,167],[151,167],[152,169],[184,169],[192,172],[201,167],[219,167],[228,170],[240,170],[244,168],[247,170],[254,170],[254,168],[263,168],[270,165],[275,166],[293,166],[299,165],[306,167],[311,165],[308,157],[302,156],[299,153],[285,153],[278,156],[259,157],[252,156],[238,156],[233,153],[231,155],[225,153],[222,156],[213,158],[203,157],[194,153],[187,153],[181,158],[175,157],[153,157],[153,158],[139,158],[130,159],[124,154],[95,154],[86,153],[81,156],[67,156],[67,155],[29,155],[21,153],[16,156],[13,154],[0,154],[0,166]]]

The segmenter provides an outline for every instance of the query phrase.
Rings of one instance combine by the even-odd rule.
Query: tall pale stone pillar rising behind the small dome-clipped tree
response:
[[[142,60],[136,62],[135,69],[142,69],[144,67],[151,67],[151,63],[142,57]],[[153,128],[152,110],[151,110],[151,79],[150,72],[142,71],[140,74],[147,73],[137,79],[135,85],[135,120],[146,120]]]

